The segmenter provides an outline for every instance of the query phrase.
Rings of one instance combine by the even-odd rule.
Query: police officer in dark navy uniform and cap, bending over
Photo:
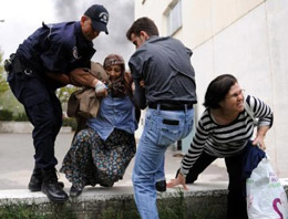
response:
[[[74,84],[95,87],[96,95],[105,95],[101,81],[93,77],[75,84],[71,74],[82,74],[82,67],[90,67],[95,53],[92,40],[100,32],[109,33],[107,22],[107,10],[93,4],[80,21],[43,23],[7,62],[9,85],[34,126],[35,166],[29,189],[42,190],[52,201],[68,199],[55,170],[54,142],[62,125],[62,108],[55,90]]]

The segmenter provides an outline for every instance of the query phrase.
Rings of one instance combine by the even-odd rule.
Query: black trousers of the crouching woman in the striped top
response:
[[[247,219],[247,206],[246,206],[246,180],[243,178],[243,158],[245,149],[233,157],[226,157],[225,164],[229,176],[228,186],[228,219]],[[195,161],[189,169],[189,174],[186,177],[186,184],[193,184],[198,175],[206,169],[217,157],[210,156],[206,153],[202,153],[199,158]]]

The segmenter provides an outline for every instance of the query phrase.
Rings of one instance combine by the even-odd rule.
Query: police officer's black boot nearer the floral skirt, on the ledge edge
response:
[[[68,195],[58,182],[56,170],[51,168],[42,170],[43,182],[41,190],[48,196],[48,198],[55,202],[62,202],[68,200]]]

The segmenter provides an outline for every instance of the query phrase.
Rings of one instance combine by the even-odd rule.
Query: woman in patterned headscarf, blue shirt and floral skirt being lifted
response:
[[[103,66],[110,80],[107,96],[101,100],[97,116],[89,118],[86,128],[74,137],[60,170],[72,182],[71,197],[80,196],[88,185],[112,187],[123,178],[136,150],[131,75],[117,54],[109,55]]]

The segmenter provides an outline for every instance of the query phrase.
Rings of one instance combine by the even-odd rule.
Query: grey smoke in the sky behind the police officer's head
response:
[[[55,15],[63,22],[79,21],[92,4],[103,4],[110,13],[109,34],[101,32],[93,41],[96,53],[92,60],[103,63],[106,55],[117,53],[127,62],[134,52],[133,44],[126,39],[126,31],[134,21],[134,0],[54,0]]]

